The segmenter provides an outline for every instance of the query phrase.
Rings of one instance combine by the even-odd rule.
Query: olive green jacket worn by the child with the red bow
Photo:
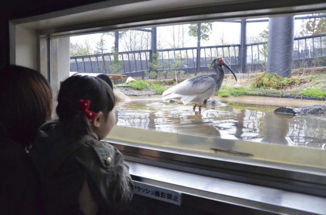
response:
[[[85,176],[99,213],[121,214],[128,209],[134,185],[122,153],[96,135],[71,143],[57,120],[41,126],[30,150],[41,175],[47,214],[77,213]]]

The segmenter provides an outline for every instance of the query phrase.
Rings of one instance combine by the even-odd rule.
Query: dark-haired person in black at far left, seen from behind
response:
[[[39,177],[29,159],[38,128],[51,118],[52,94],[37,71],[0,70],[0,208],[3,214],[42,214]]]

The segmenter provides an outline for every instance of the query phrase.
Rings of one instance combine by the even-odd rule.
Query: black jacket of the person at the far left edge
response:
[[[43,214],[39,177],[28,153],[3,131],[0,138],[0,213]]]

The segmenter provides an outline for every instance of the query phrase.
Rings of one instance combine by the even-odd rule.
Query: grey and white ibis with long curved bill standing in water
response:
[[[213,96],[222,86],[224,79],[224,69],[222,66],[228,68],[235,80],[237,78],[231,68],[225,64],[223,57],[216,57],[212,63],[216,74],[199,75],[193,78],[188,78],[177,85],[174,85],[162,93],[162,100],[179,99],[184,105],[188,103],[195,103],[193,110],[201,111],[204,100]]]

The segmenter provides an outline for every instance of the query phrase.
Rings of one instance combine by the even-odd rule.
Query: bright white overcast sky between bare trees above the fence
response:
[[[306,15],[302,15],[306,16]],[[268,18],[260,18],[268,19]],[[257,19],[256,19],[257,20]],[[301,31],[302,20],[297,19],[294,22],[294,37],[298,36],[298,33]],[[159,49],[172,48],[173,47],[173,30],[178,30],[182,28],[181,25],[174,26],[158,26],[157,27],[157,42]],[[187,35],[188,24],[183,25],[185,30],[184,34],[184,47],[196,47],[197,38],[190,37]],[[268,22],[250,22],[247,23],[247,43],[249,43],[250,38],[259,36],[264,29],[268,28]],[[83,36],[74,36],[70,37],[71,43],[79,43],[84,45],[86,41],[93,47],[95,50],[96,42],[99,41],[101,33],[83,35]],[[112,50],[114,47],[114,37],[105,35],[105,45],[107,52]],[[240,23],[236,22],[213,22],[212,31],[209,35],[208,41],[201,41],[201,46],[212,46],[212,45],[221,45],[222,41],[224,44],[239,44],[240,43]],[[120,42],[119,42],[120,43]],[[119,45],[119,51],[126,51],[123,47],[122,41]]]

